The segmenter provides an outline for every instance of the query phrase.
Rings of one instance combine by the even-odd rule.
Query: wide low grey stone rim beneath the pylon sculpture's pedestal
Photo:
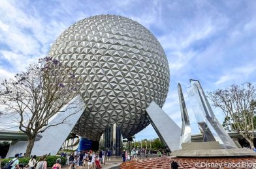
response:
[[[251,149],[180,149],[170,155],[175,157],[256,157],[256,152]]]

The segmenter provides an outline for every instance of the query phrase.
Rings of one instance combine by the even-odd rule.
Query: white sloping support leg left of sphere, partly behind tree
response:
[[[68,105],[63,107],[52,119],[49,125],[54,125],[61,122],[63,119],[67,118],[66,123],[61,123],[59,125],[49,127],[41,135],[39,141],[36,141],[34,147],[31,151],[31,155],[45,155],[51,153],[51,155],[56,155],[57,151],[61,148],[61,145],[71,133],[74,125],[86,109],[84,100],[80,96],[76,96],[72,99]],[[10,149],[7,153],[7,157],[14,157],[16,153],[24,153],[27,147],[27,142],[19,141],[15,144],[10,145]]]

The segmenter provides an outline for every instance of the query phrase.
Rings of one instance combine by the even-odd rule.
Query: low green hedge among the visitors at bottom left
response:
[[[47,156],[46,157],[46,161],[47,161],[47,167],[52,167],[55,162],[56,162],[56,159],[58,158],[61,158],[61,165],[65,165],[66,164],[66,161],[67,159],[65,157],[60,157],[60,156]],[[29,159],[31,158],[18,158],[19,159],[19,163],[20,164],[24,164],[24,167],[25,165],[27,165],[29,163]],[[9,162],[11,159],[2,159],[2,162],[1,162],[1,167],[5,166],[5,164],[7,164],[7,162]],[[39,157],[37,157],[37,160],[39,160]]]

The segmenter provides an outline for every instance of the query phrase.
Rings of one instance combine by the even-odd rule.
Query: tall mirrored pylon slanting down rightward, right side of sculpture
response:
[[[205,122],[209,127],[215,140],[223,146],[223,148],[237,148],[236,144],[233,142],[231,137],[227,134],[227,131],[223,129],[221,123],[217,120],[212,108],[204,94],[204,90],[196,80],[190,80],[191,88],[189,90],[189,98],[195,101],[196,105],[193,105],[193,110],[195,111],[195,116],[200,119],[201,122]]]

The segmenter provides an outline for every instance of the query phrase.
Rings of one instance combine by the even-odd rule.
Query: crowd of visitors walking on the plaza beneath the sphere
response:
[[[131,160],[138,160],[142,157],[142,155],[148,158],[151,151],[145,148],[133,148],[131,151],[123,151],[121,153],[121,157],[123,162],[131,161]],[[50,155],[50,154],[49,154]],[[166,153],[164,149],[159,149],[157,151],[158,157],[165,157]],[[28,164],[25,166],[25,169],[47,169],[47,156],[43,155],[37,161],[36,155],[31,155],[31,159],[29,159]],[[105,162],[111,162],[110,157],[112,156],[112,151],[110,150],[101,150],[99,151],[74,151],[71,154],[61,153],[61,157],[67,158],[67,164],[69,165],[69,169],[81,169],[82,166],[88,166],[89,168],[102,168]],[[17,153],[9,162],[10,168],[8,169],[20,169],[19,159],[20,154]],[[22,167],[23,168],[23,167]],[[3,168],[5,169],[5,168]],[[7,169],[7,168],[6,168]],[[61,159],[58,158],[56,163],[52,166],[52,169],[61,169]]]

